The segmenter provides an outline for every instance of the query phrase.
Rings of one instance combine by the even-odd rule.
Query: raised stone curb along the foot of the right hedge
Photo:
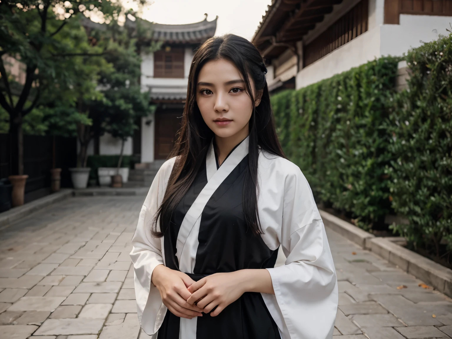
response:
[[[326,227],[452,297],[452,269],[401,246],[400,244],[405,242],[404,238],[376,237],[328,212],[322,210],[319,212]]]

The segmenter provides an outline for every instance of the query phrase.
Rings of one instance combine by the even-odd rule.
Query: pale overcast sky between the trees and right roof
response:
[[[248,40],[265,14],[271,0],[153,0],[143,11],[143,19],[158,24],[190,24],[218,15],[215,35],[233,33]],[[126,5],[127,6],[127,5]]]

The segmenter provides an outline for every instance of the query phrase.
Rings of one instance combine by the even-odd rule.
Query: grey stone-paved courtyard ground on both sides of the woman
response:
[[[143,200],[70,198],[0,231],[0,337],[150,338],[138,323],[129,257]],[[334,339],[452,337],[451,299],[327,234],[339,279]]]

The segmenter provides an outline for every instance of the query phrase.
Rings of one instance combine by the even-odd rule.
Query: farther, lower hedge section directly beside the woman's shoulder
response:
[[[397,61],[380,58],[272,97],[283,149],[317,201],[350,213],[363,228],[391,208],[384,169],[391,160],[386,124]]]

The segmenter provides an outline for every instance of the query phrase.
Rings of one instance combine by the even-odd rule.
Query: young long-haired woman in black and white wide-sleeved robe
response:
[[[333,335],[325,227],[282,152],[266,72],[259,51],[233,34],[193,57],[179,138],[132,239],[138,318],[153,338]],[[275,267],[279,246],[287,260]]]

